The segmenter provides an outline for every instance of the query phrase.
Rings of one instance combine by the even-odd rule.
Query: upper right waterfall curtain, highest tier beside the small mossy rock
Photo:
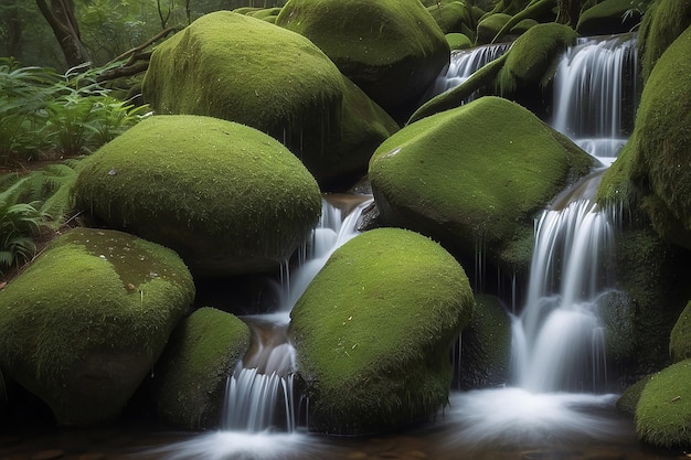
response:
[[[637,46],[630,35],[578,39],[554,76],[552,127],[610,164],[636,107]]]

